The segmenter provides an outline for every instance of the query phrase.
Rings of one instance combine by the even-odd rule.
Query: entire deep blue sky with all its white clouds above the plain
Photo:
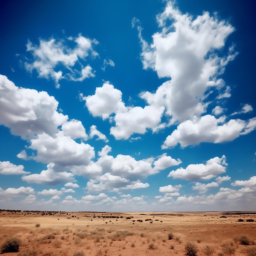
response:
[[[8,1],[0,208],[255,210],[253,6]]]

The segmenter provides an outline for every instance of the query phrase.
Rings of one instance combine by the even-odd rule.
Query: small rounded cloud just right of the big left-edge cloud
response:
[[[61,130],[63,130],[65,136],[70,136],[72,139],[88,139],[85,128],[79,120],[72,119],[70,121],[66,121],[61,126]]]

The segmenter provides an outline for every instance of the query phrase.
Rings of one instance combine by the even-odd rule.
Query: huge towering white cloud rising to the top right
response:
[[[222,98],[228,97],[230,88],[225,88],[225,82],[218,76],[237,53],[234,47],[229,47],[227,56],[220,57],[218,51],[225,46],[234,27],[208,12],[196,18],[182,14],[171,1],[157,20],[162,31],[153,34],[151,45],[142,38],[142,29],[138,27],[141,59],[145,69],[152,68],[160,78],[168,77],[171,81],[160,85],[155,93],[142,93],[141,98],[150,105],[165,106],[171,124],[194,115],[199,117],[208,106],[204,100],[209,88],[222,94],[224,87],[226,93]],[[171,25],[167,25],[169,21]]]

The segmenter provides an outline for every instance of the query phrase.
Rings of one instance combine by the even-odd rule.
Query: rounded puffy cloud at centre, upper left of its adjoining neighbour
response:
[[[102,87],[97,87],[94,95],[82,97],[86,107],[94,117],[107,119],[112,113],[124,111],[125,105],[122,102],[122,92],[115,89],[113,85],[105,82]]]

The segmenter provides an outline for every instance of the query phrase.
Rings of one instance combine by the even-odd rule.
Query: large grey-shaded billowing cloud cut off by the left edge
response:
[[[47,92],[19,88],[0,75],[0,125],[13,135],[30,139],[47,133],[54,135],[68,117],[58,113],[58,101]]]

